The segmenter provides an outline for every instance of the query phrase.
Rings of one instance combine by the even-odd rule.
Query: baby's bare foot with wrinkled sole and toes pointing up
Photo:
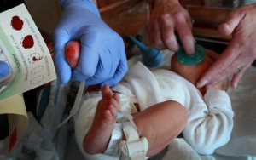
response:
[[[96,114],[89,132],[84,137],[84,151],[89,154],[104,152],[116,123],[119,110],[119,94],[113,94],[108,85],[102,88],[102,100],[96,106]]]

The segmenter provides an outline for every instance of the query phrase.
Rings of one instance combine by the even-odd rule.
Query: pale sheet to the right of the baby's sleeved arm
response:
[[[236,89],[228,89],[234,117],[230,142],[218,149],[227,156],[256,157],[256,68],[250,67]]]

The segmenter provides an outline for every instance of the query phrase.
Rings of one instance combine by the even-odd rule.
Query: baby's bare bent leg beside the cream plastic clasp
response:
[[[147,156],[168,146],[187,123],[187,110],[177,101],[164,101],[133,115],[140,137],[148,140]]]

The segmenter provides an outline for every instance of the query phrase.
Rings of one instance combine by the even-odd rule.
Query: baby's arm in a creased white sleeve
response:
[[[208,89],[204,99],[207,107],[199,103],[190,108],[183,136],[198,153],[212,154],[230,140],[234,113],[229,95],[222,90]]]

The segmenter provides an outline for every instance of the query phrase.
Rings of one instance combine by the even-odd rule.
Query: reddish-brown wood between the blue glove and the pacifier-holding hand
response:
[[[147,23],[147,0],[119,0],[99,9],[102,20],[122,37],[136,35]]]

